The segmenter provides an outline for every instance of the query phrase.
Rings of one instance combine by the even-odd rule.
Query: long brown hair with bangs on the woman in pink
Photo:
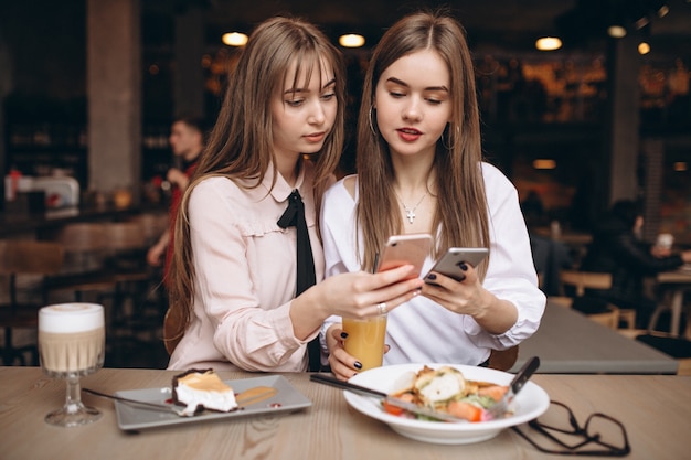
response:
[[[173,233],[174,250],[167,279],[170,301],[168,315],[174,319],[176,327],[168,331],[167,340],[177,341],[184,334],[194,298],[195,274],[188,222],[190,194],[196,184],[211,175],[241,179],[245,181],[244,184],[249,180],[254,183],[249,186],[261,184],[268,168],[275,164],[270,103],[294,64],[296,67],[293,87],[299,86],[297,78],[302,73],[309,84],[312,77],[310,71],[316,65],[330,65],[336,77],[336,122],[321,151],[313,156],[315,203],[321,202],[321,194],[338,165],[343,146],[344,64],[340,52],[315,25],[296,18],[272,18],[254,30],[235,69],[230,74],[223,106],[209,145],[200,158],[178,211]],[[241,186],[243,184],[240,181],[237,183]]]

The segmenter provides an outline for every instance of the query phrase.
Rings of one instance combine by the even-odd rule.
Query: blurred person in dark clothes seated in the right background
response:
[[[635,309],[638,329],[648,328],[657,307],[656,300],[645,293],[645,277],[691,263],[691,250],[672,254],[669,248],[641,240],[642,226],[640,205],[631,200],[617,201],[595,229],[581,264],[583,271],[612,274],[612,288],[592,289],[587,293],[619,308]]]

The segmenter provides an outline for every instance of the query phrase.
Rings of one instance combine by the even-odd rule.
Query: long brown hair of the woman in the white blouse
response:
[[[373,99],[382,73],[398,58],[433,50],[446,62],[450,75],[451,121],[437,141],[433,169],[438,228],[436,257],[453,246],[489,247],[489,217],[482,180],[479,109],[470,51],[460,24],[443,11],[418,12],[396,22],[379,42],[364,78],[358,121],[358,220],[364,247],[363,269],[371,269],[378,250],[390,235],[403,229],[393,193],[394,171],[386,141],[376,129]],[[486,259],[479,267],[487,272]]]

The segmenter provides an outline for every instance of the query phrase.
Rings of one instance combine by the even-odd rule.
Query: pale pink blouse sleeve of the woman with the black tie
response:
[[[223,178],[208,180],[194,189],[189,202],[195,304],[203,309],[195,314],[203,314],[202,321],[211,322],[213,345],[231,363],[247,371],[280,370],[289,361],[300,361],[305,343],[311,339],[295,338],[290,301],[283,300],[293,298],[288,291],[295,289],[295,270],[285,269],[285,279],[272,282],[276,293],[261,292],[253,272],[258,272],[262,267],[257,264],[262,261],[248,255],[248,240],[257,235],[272,238],[273,244],[268,243],[267,247],[276,254],[276,260],[291,257],[283,253],[295,249],[293,245],[280,244],[285,239],[269,222],[259,222],[256,228],[243,228],[246,224],[237,216],[247,204],[233,202],[235,185],[219,181],[232,184]],[[270,303],[267,299],[277,300]]]

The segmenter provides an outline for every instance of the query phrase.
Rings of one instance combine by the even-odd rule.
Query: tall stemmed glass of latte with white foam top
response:
[[[51,425],[91,424],[100,413],[82,404],[79,377],[103,367],[106,332],[103,306],[60,303],[39,310],[39,356],[43,373],[67,383],[65,404],[45,416]]]

